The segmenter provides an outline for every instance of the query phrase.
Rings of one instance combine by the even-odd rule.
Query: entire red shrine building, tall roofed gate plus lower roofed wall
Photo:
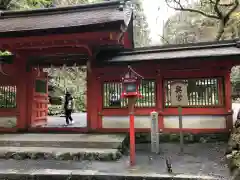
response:
[[[159,112],[159,129],[177,132],[171,84],[187,83],[183,131],[229,132],[232,128],[230,72],[240,64],[238,41],[133,49],[133,18],[128,2],[1,12],[0,49],[15,55],[0,75],[0,131],[57,130],[127,132],[121,75],[128,65],[144,77],[143,98],[135,106],[137,132],[149,131],[150,112]],[[38,128],[47,119],[47,74],[43,67],[87,65],[87,127]],[[6,100],[5,95],[10,96]],[[9,122],[9,123],[8,123]],[[16,125],[11,125],[15,122]],[[14,123],[13,123],[14,124]]]

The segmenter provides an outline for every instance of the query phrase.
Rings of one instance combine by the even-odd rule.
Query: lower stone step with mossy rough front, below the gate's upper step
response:
[[[0,159],[99,160],[114,161],[122,156],[118,149],[60,147],[1,147]]]

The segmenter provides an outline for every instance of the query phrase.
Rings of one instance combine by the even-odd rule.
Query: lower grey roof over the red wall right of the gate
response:
[[[240,42],[237,40],[203,42],[185,45],[153,46],[125,50],[106,59],[108,63],[137,62],[146,60],[166,60],[203,58],[219,56],[240,56]]]

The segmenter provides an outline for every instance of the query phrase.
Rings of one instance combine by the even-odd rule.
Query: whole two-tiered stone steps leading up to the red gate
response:
[[[118,160],[125,151],[124,135],[5,134],[0,135],[0,159]]]

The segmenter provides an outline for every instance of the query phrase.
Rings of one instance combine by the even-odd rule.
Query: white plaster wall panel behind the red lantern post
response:
[[[103,116],[103,128],[129,128],[129,116]],[[149,116],[135,116],[135,128],[150,128]]]

